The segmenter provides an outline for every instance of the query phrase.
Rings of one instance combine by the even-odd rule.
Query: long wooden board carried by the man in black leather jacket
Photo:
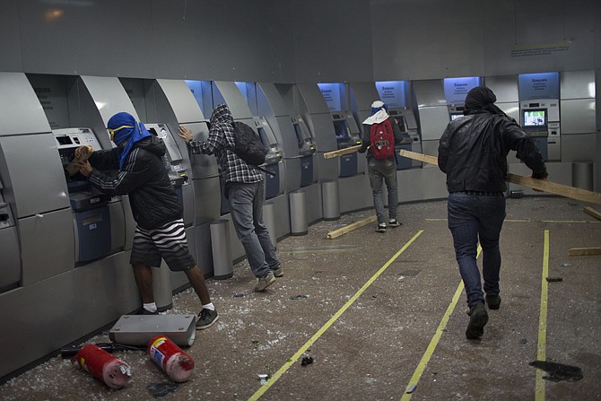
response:
[[[414,159],[418,161],[423,161],[426,163],[436,164],[438,165],[438,158],[434,156],[429,156],[427,154],[415,153],[411,151],[405,151],[405,149],[401,149],[399,152],[401,156],[408,157],[409,159]],[[601,194],[598,192],[588,191],[586,189],[580,189],[577,187],[570,187],[567,185],[556,184],[551,181],[545,181],[543,179],[533,179],[530,177],[520,176],[518,174],[507,173],[507,181],[521,185],[522,187],[531,187],[534,189],[538,189],[540,191],[549,192],[555,195],[561,195],[565,197],[570,197],[571,199],[576,199],[584,202],[590,202],[591,204],[601,205]]]

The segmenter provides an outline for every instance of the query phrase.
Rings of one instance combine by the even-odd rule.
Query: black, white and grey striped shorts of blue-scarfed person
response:
[[[187,248],[183,219],[168,222],[152,230],[135,227],[134,246],[129,263],[159,267],[161,258],[165,259],[167,266],[174,272],[196,266],[196,261]]]

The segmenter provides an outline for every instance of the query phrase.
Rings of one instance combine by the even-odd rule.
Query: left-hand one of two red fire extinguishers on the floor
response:
[[[126,362],[94,344],[83,345],[71,362],[77,362],[83,370],[102,381],[109,388],[123,388],[132,377]]]

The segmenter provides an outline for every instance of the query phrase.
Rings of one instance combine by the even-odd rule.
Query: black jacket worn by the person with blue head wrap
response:
[[[111,196],[129,195],[135,222],[152,230],[181,218],[183,212],[165,169],[165,152],[160,138],[150,136],[138,141],[116,178],[100,170],[118,170],[118,148],[94,152],[89,159],[93,169],[88,179]]]

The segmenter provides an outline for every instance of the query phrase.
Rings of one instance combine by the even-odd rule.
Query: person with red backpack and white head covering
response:
[[[395,144],[400,144],[401,130],[395,118],[388,116],[388,106],[380,100],[371,104],[371,115],[363,121],[363,135],[359,153],[367,151],[367,165],[373,205],[378,216],[376,231],[386,232],[386,214],[382,199],[382,181],[388,190],[388,226],[398,227],[402,223],[396,219],[396,152]]]

